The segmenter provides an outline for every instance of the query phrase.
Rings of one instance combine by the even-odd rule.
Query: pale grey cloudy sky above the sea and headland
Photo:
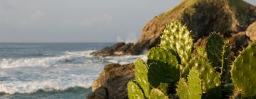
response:
[[[136,42],[147,22],[180,2],[0,0],[0,42]]]

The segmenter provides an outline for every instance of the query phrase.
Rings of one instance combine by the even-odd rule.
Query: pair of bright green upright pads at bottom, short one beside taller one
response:
[[[178,82],[177,94],[180,99],[201,99],[201,78],[196,67],[188,74],[188,85],[184,78]]]

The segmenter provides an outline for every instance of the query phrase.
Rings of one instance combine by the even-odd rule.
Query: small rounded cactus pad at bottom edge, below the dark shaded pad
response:
[[[153,88],[150,92],[149,99],[168,99],[168,96],[164,95],[159,89]]]

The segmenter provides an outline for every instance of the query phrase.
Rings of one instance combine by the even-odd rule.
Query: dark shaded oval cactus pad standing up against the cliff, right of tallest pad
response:
[[[213,66],[221,66],[221,55],[223,51],[223,38],[218,33],[211,33],[206,43],[207,57]]]

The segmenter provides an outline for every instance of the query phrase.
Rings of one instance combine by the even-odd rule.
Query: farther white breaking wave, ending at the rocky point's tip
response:
[[[58,66],[58,64],[68,62],[82,62],[85,57],[92,57],[90,53],[93,51],[85,52],[65,52],[57,57],[35,57],[35,58],[21,58],[21,59],[1,59],[0,68],[17,68],[27,66]]]

